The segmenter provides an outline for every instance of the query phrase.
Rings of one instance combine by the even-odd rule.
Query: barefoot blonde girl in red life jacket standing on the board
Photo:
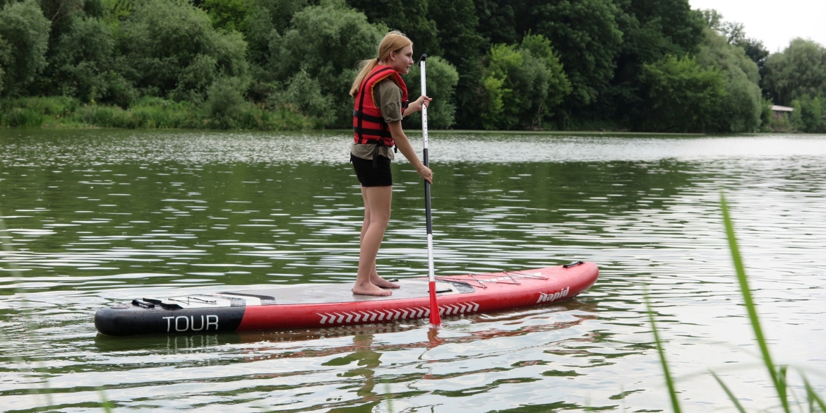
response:
[[[390,221],[392,177],[390,161],[397,150],[429,183],[433,172],[416,156],[410,140],[401,130],[401,118],[420,111],[430,104],[430,97],[421,96],[407,103],[407,88],[400,74],[407,74],[413,65],[413,42],[398,31],[387,33],[378,45],[378,58],[361,62],[350,96],[355,97],[353,111],[354,143],[350,162],[362,184],[364,223],[361,230],[361,249],[358,255],[358,275],[354,294],[389,296],[385,288],[398,284],[379,277],[376,272],[376,254]]]

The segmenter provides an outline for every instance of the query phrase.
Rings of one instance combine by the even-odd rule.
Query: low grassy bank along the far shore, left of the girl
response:
[[[311,116],[288,107],[268,110],[249,102],[207,101],[200,105],[144,97],[131,107],[83,104],[72,97],[0,100],[0,127],[107,127],[125,129],[320,129]]]

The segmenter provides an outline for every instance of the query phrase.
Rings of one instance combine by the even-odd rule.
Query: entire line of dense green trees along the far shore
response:
[[[823,45],[687,0],[0,0],[0,125],[346,128],[389,30],[433,127],[826,132]]]

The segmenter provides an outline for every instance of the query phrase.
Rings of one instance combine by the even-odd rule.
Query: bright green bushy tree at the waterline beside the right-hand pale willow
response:
[[[726,96],[726,79],[716,69],[703,69],[691,57],[667,55],[643,65],[648,116],[635,129],[657,132],[705,132],[714,127]]]

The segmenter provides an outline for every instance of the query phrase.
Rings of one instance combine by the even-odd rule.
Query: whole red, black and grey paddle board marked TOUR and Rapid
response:
[[[594,263],[436,278],[439,313],[459,316],[563,301],[596,282]],[[426,278],[403,279],[392,296],[358,296],[350,284],[142,298],[95,314],[105,335],[271,330],[428,318]]]

